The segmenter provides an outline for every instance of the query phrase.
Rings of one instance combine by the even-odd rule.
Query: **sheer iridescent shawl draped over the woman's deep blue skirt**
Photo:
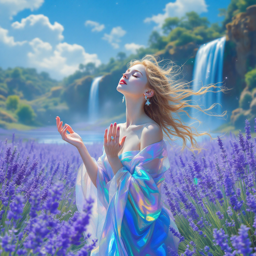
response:
[[[78,170],[76,180],[78,210],[82,210],[86,198],[94,199],[90,224],[87,228],[91,237],[87,241],[91,242],[91,239],[97,238],[98,243],[91,251],[91,256],[128,256],[121,237],[121,225],[128,196],[129,204],[136,211],[136,224],[142,235],[141,241],[144,247],[147,246],[150,241],[149,236],[153,232],[150,229],[151,225],[162,211],[161,185],[165,179],[164,173],[170,168],[164,140],[151,144],[142,151],[124,152],[119,158],[123,167],[115,175],[104,147],[103,155],[98,161],[93,158],[98,166],[97,188],[91,182],[84,164],[81,164]],[[171,212],[165,208],[166,210],[170,216],[169,224],[178,231]],[[168,241],[172,244],[167,246],[177,251],[178,239],[172,236]]]

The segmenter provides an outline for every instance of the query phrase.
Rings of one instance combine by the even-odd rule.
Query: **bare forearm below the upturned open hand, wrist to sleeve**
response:
[[[77,147],[77,149],[78,149],[80,156],[82,157],[84,166],[87,170],[87,173],[88,173],[92,183],[94,184],[95,187],[97,187],[96,179],[97,179],[97,173],[98,173],[98,166],[92,160],[86,146],[83,143],[81,143]]]

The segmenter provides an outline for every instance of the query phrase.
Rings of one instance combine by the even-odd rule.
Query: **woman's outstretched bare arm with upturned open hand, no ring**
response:
[[[82,157],[83,163],[86,167],[87,173],[94,186],[97,187],[96,179],[98,173],[98,166],[92,160],[86,146],[82,141],[82,138],[73,131],[70,125],[65,124],[64,127],[62,127],[62,121],[60,121],[60,118],[58,116],[56,118],[56,124],[58,132],[61,134],[62,140],[67,141],[78,149],[78,152]],[[70,134],[66,133],[66,131],[69,131]]]

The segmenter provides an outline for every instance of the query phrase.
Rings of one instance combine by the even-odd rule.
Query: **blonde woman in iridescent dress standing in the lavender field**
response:
[[[78,210],[86,198],[94,198],[87,231],[98,243],[91,256],[162,256],[170,248],[178,251],[179,239],[169,227],[177,232],[178,228],[161,196],[170,167],[163,131],[169,138],[182,138],[183,147],[188,139],[194,148],[198,148],[194,136],[207,134],[193,132],[178,114],[191,106],[186,97],[216,86],[193,92],[174,82],[173,69],[160,68],[152,55],[133,60],[128,67],[117,86],[125,97],[126,122],[105,130],[103,155],[97,162],[81,137],[56,118],[62,139],[76,146],[83,160],[76,181]]]

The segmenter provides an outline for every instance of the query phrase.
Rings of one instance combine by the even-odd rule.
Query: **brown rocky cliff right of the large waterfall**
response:
[[[244,126],[242,119],[254,122],[256,116],[256,94],[244,80],[244,75],[256,65],[256,5],[251,5],[247,7],[246,12],[234,16],[226,27],[227,42],[233,44],[235,49],[229,66],[234,70],[231,80],[238,94],[234,101],[236,109],[233,108],[231,122],[236,128],[242,128]]]

